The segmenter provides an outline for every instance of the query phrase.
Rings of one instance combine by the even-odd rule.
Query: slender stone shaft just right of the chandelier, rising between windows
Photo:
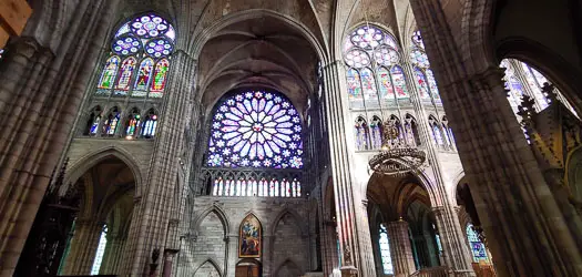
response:
[[[408,80],[413,79],[415,72],[412,65],[409,62],[404,62],[402,68],[408,76]],[[462,244],[462,232],[460,230],[459,220],[457,214],[452,209],[452,204],[449,201],[445,188],[445,181],[442,179],[442,166],[438,158],[436,145],[433,143],[432,136],[430,135],[432,129],[428,124],[428,116],[426,114],[425,107],[420,101],[419,91],[416,85],[409,85],[410,100],[415,107],[415,112],[418,115],[418,125],[421,131],[421,138],[425,142],[425,150],[427,152],[427,161],[429,163],[432,174],[435,175],[435,185],[436,187],[426,187],[430,195],[430,202],[433,207],[442,206],[442,220],[437,220],[439,229],[446,234],[442,236],[442,247],[443,256],[448,266],[453,270],[459,273],[471,273],[471,263],[469,260],[469,253],[467,247]],[[422,137],[423,136],[423,137]]]

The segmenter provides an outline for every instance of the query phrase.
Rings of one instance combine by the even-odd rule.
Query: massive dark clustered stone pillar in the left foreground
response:
[[[119,0],[104,2],[76,1],[71,14],[34,11],[0,64],[0,276],[13,275],[68,144]],[[54,30],[62,22],[67,32]]]

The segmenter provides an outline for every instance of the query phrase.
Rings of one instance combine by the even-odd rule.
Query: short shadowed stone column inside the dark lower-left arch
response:
[[[91,273],[102,230],[102,222],[91,219],[75,222],[71,250],[64,264],[64,275],[89,275]]]

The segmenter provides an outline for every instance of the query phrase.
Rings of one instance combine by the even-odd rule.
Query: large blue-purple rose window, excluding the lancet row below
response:
[[[213,119],[210,166],[303,167],[300,119],[283,95],[262,91],[232,95],[216,106]]]

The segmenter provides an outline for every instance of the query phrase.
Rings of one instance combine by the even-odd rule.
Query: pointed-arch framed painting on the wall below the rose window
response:
[[[248,215],[241,224],[238,256],[242,258],[261,257],[261,223],[254,215]]]

